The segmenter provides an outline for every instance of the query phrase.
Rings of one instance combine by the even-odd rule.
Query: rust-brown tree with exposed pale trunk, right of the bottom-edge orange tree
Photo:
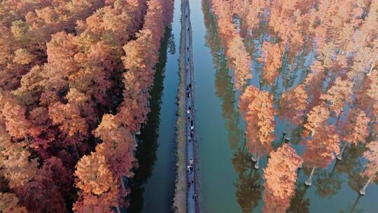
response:
[[[316,127],[316,133],[305,144],[306,149],[302,158],[304,166],[311,168],[311,174],[305,184],[311,186],[314,170],[328,167],[339,154],[339,135],[335,125],[321,123]]]

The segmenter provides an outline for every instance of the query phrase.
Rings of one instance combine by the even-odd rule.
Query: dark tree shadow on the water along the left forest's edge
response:
[[[138,159],[139,167],[135,170],[132,179],[130,207],[128,212],[141,212],[144,205],[145,184],[151,177],[153,166],[156,160],[156,150],[158,149],[158,130],[160,125],[160,104],[162,91],[164,88],[163,80],[165,73],[165,64],[167,63],[167,47],[172,48],[172,29],[166,29],[162,45],[160,46],[159,62],[155,65],[155,78],[151,90],[150,113],[148,121],[141,130],[139,136],[139,146],[135,156]],[[169,42],[171,41],[171,42]],[[173,42],[174,45],[174,42]],[[173,174],[172,174],[173,175]]]

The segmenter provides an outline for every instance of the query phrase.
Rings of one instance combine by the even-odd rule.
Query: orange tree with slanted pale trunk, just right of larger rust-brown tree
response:
[[[369,121],[364,111],[360,109],[351,109],[346,115],[346,120],[342,125],[341,135],[344,145],[337,156],[338,160],[342,160],[342,153],[344,153],[347,144],[357,145],[358,143],[365,143],[366,137],[369,135]]]

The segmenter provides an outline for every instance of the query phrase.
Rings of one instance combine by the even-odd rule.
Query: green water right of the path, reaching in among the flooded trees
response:
[[[252,168],[248,149],[244,146],[244,123],[236,107],[239,94],[232,90],[225,50],[208,5],[206,0],[190,1],[202,210],[204,213],[261,212],[264,205],[262,170]],[[258,47],[248,36],[245,42],[253,57],[250,84],[259,86],[258,53],[253,52]],[[295,72],[281,71],[277,86],[271,91],[276,99],[284,88],[292,88],[304,78],[307,59],[311,58],[305,59]],[[262,89],[267,90],[267,86],[262,85]],[[288,125],[276,118],[275,144],[279,144],[285,128]],[[299,143],[299,133],[300,130],[294,129],[291,138],[297,153],[302,154],[304,147]],[[300,170],[296,195],[288,212],[378,212],[377,184],[370,184],[366,195],[358,196],[358,190],[365,183],[359,175],[365,164],[359,157],[363,151],[363,147],[353,146],[336,165],[334,162],[327,170],[316,170],[309,188],[304,187],[309,171]],[[265,156],[260,167],[264,168],[266,163]]]

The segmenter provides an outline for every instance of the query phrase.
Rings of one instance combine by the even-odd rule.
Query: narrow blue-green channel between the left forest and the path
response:
[[[129,212],[172,212],[174,192],[176,95],[179,85],[180,1],[155,66],[148,122],[139,139],[139,167],[132,180]]]

